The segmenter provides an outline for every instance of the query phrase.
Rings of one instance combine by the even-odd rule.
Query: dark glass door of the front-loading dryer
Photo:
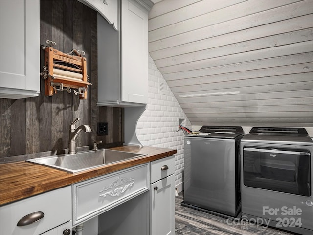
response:
[[[245,146],[244,185],[310,196],[310,158],[306,149]]]

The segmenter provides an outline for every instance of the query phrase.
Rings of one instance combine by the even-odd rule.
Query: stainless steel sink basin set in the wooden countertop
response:
[[[123,152],[110,149],[87,151],[76,154],[62,154],[42,158],[28,159],[27,162],[49,166],[68,173],[77,173],[101,165],[121,162],[145,156],[145,154]]]

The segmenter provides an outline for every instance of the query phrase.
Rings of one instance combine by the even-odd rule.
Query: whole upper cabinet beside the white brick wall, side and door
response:
[[[148,2],[118,1],[118,32],[98,15],[98,105],[147,104]]]

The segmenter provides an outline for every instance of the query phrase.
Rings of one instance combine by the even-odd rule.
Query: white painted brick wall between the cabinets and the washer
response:
[[[165,85],[165,94],[158,94],[159,81]],[[180,192],[183,184],[184,133],[182,130],[176,131],[179,130],[179,119],[185,119],[182,125],[188,129],[191,129],[191,123],[150,55],[148,85],[148,104],[137,122],[137,138],[143,146],[177,149],[175,184]]]

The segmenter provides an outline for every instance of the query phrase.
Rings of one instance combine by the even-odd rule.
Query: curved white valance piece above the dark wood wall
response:
[[[118,30],[117,0],[82,0],[82,2],[99,12],[116,31]]]

